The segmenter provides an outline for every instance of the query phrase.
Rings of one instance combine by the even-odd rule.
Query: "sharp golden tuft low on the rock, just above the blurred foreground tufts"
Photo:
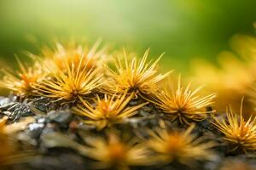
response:
[[[73,108],[73,112],[85,116],[86,120],[84,122],[96,125],[97,129],[101,130],[103,127],[123,122],[126,118],[136,115],[139,108],[148,104],[146,102],[140,105],[127,106],[133,95],[127,96],[127,91],[122,95],[113,94],[113,96],[109,96],[105,94],[103,99],[97,95],[96,99],[93,99],[94,104],[92,105],[81,99],[83,105]]]

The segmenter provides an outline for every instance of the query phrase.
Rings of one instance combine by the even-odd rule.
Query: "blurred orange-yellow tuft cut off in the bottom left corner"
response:
[[[25,161],[26,158],[31,155],[24,152],[19,153],[16,150],[16,142],[12,138],[12,135],[20,130],[23,130],[26,128],[27,124],[34,121],[34,118],[27,117],[20,122],[16,122],[10,125],[6,125],[6,122],[8,120],[7,116],[3,116],[0,119],[0,144],[1,144],[1,150],[0,150],[0,168],[2,169],[2,166],[12,164],[15,162]]]

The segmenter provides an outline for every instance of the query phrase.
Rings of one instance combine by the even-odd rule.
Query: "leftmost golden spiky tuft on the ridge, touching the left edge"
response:
[[[20,59],[17,58],[20,66],[20,71],[16,74],[11,71],[3,70],[3,80],[0,82],[0,86],[8,88],[15,95],[20,98],[26,98],[34,95],[33,84],[42,81],[45,76],[43,66],[35,61],[32,66],[26,67]]]

